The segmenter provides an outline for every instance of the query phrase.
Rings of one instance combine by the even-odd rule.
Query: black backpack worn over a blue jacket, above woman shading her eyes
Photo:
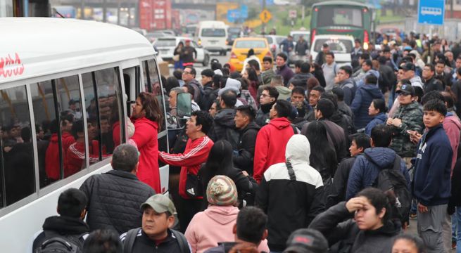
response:
[[[370,156],[365,153],[363,155],[365,155],[365,158],[372,162],[372,164],[379,167]],[[401,160],[400,156],[396,154],[392,167],[381,168],[372,186],[383,191],[393,191],[396,195],[396,208],[393,210],[393,216],[400,219],[403,224],[408,222],[410,217],[412,195],[410,190],[408,190],[407,180],[405,176],[403,176],[402,171],[400,171]]]

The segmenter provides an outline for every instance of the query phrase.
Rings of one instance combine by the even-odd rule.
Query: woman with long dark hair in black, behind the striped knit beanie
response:
[[[210,150],[210,154],[208,154],[206,164],[204,164],[200,171],[198,171],[198,176],[201,179],[203,189],[206,189],[208,182],[213,178],[213,176],[229,176],[237,187],[240,206],[242,205],[242,200],[246,200],[247,205],[253,205],[253,199],[251,197],[254,197],[258,184],[251,176],[248,176],[246,171],[241,171],[241,169],[236,169],[234,167],[234,164],[232,163],[232,152],[232,145],[229,141],[220,140],[215,142],[213,148]],[[208,206],[206,199],[206,193],[203,193],[204,201],[202,209],[206,209]]]

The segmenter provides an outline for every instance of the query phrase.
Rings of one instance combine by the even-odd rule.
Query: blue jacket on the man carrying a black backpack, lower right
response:
[[[379,171],[386,167],[392,167],[396,159],[396,152],[390,148],[367,148],[365,154],[378,164],[380,168],[367,160],[365,155],[359,155],[355,159],[351,173],[349,173],[346,201],[355,197],[360,190],[372,186],[377,179]],[[400,171],[402,171],[403,176],[407,179],[408,190],[410,190],[410,175],[403,159],[400,161]]]

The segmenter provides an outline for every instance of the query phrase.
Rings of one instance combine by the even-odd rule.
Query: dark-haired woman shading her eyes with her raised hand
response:
[[[400,220],[392,216],[395,205],[391,191],[365,188],[317,215],[309,228],[328,239],[330,252],[391,252],[394,236],[402,231]]]

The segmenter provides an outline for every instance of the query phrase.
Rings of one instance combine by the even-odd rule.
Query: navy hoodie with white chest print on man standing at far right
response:
[[[417,145],[413,196],[425,206],[444,205],[450,198],[453,150],[439,124],[429,129]]]

